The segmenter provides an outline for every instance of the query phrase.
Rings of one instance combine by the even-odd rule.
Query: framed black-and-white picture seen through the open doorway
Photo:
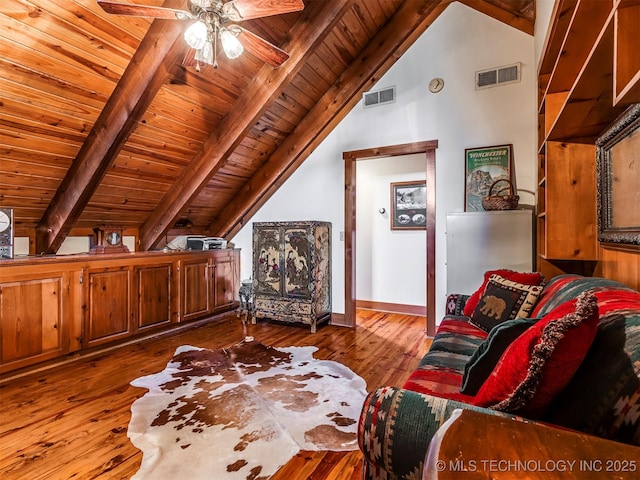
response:
[[[427,182],[391,184],[391,230],[427,228]]]

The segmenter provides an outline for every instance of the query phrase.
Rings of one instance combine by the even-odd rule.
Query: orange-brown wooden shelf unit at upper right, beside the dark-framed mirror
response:
[[[537,268],[598,260],[597,138],[640,102],[640,0],[557,0],[538,68]]]

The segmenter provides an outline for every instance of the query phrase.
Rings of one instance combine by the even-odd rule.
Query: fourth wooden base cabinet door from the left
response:
[[[211,312],[211,275],[213,264],[207,258],[182,262],[181,321],[202,317]]]

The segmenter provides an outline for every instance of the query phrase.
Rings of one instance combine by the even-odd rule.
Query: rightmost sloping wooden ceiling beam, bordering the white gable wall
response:
[[[282,186],[368,90],[448,6],[448,1],[404,2],[387,25],[338,78],[209,228],[233,236]]]

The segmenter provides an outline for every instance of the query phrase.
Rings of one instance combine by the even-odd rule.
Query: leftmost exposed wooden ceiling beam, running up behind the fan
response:
[[[183,22],[155,20],[36,227],[36,252],[55,253],[156,93],[185,42]],[[175,44],[175,47],[174,47]]]

